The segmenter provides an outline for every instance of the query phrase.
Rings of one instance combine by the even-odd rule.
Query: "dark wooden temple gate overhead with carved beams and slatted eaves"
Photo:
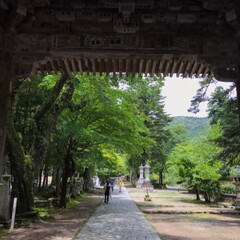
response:
[[[0,0],[0,169],[13,81],[42,73],[205,77],[239,88],[239,0]]]

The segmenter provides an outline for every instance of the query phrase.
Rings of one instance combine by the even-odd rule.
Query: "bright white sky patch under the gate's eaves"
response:
[[[200,104],[200,112],[197,114],[188,112],[193,96],[196,95],[199,88],[197,78],[177,78],[166,77],[165,85],[162,88],[162,95],[165,96],[165,112],[170,116],[191,116],[191,117],[207,117],[207,102]],[[208,89],[208,96],[214,91],[216,86],[228,88],[232,83],[217,82],[211,84]]]

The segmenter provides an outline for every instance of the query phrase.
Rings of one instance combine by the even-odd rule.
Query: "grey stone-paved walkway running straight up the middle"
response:
[[[160,238],[131,200],[125,187],[114,189],[108,204],[102,203],[76,240],[159,240]]]

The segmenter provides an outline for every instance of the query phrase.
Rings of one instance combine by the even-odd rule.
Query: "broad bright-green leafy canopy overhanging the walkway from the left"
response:
[[[144,116],[132,103],[129,92],[116,88],[113,77],[77,75],[78,85],[56,124],[54,141],[59,152],[69,135],[78,171],[95,166],[103,173],[125,173],[124,155],[138,156],[153,142]],[[114,85],[112,85],[112,83]],[[62,146],[62,147],[61,147]],[[101,174],[101,172],[100,172]]]

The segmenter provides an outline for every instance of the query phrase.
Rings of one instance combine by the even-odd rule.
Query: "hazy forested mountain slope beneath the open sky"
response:
[[[171,125],[183,124],[186,126],[188,131],[188,137],[190,139],[198,137],[201,132],[203,132],[208,124],[208,118],[198,118],[198,117],[174,117]]]

